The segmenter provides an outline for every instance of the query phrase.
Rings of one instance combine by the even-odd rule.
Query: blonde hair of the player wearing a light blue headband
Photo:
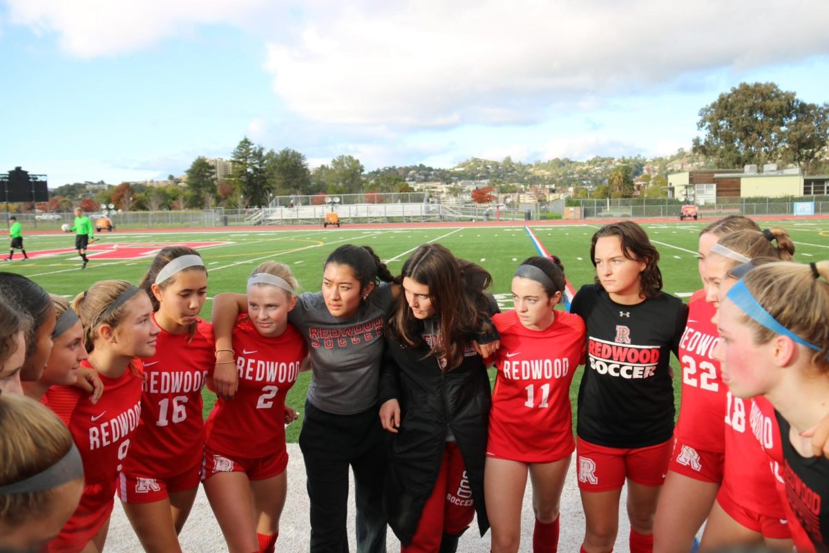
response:
[[[812,365],[829,372],[829,261],[812,266],[792,262],[770,263],[749,271],[745,287],[783,327],[819,349],[812,351]],[[763,344],[776,332],[744,316],[754,330],[754,342]]]

